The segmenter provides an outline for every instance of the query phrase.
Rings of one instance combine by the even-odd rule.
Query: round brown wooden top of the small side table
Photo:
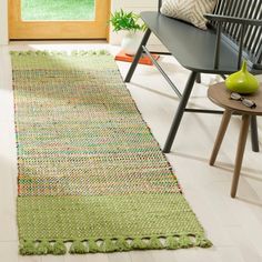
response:
[[[255,93],[241,94],[242,98],[255,102],[256,108],[251,109],[244,105],[241,101],[230,99],[231,91],[225,88],[224,82],[213,84],[208,90],[209,99],[224,109],[240,112],[242,114],[262,115],[262,83]]]

